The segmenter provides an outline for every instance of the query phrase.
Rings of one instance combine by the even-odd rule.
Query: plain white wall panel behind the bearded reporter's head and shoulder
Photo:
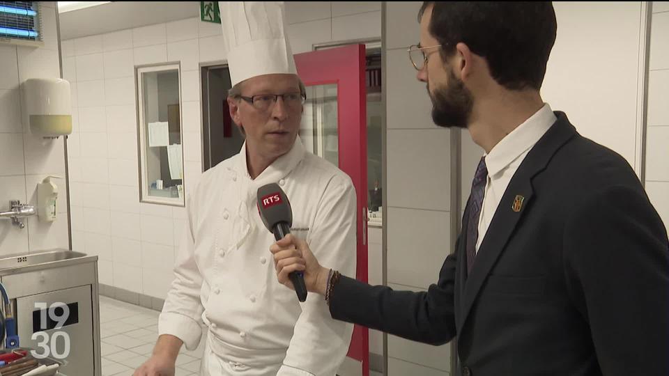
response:
[[[556,1],[553,6],[557,38],[542,97],[553,110],[567,113],[580,134],[636,166],[642,3]]]

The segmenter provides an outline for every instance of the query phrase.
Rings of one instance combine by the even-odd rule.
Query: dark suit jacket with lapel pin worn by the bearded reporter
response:
[[[427,292],[342,278],[332,317],[433,345],[457,336],[465,375],[669,375],[666,228],[629,164],[555,115],[469,276],[463,232]]]

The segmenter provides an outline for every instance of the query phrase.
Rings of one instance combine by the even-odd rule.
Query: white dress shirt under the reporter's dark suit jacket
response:
[[[488,181],[483,198],[481,213],[479,214],[479,236],[476,242],[476,251],[486,236],[488,226],[493,220],[495,211],[500,205],[502,196],[514,177],[518,166],[521,165],[528,152],[544,136],[548,128],[555,123],[557,118],[548,106],[544,104],[539,111],[530,116],[528,120],[518,125],[515,130],[507,134],[486,155],[486,167],[488,169]],[[509,203],[509,205],[511,205]]]

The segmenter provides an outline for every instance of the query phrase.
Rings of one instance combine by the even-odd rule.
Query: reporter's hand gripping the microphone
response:
[[[325,295],[330,269],[318,264],[307,242],[293,234],[288,234],[282,240],[272,244],[270,252],[274,254],[274,265],[277,269],[279,283],[295,290],[288,275],[291,272],[303,272],[307,291]]]

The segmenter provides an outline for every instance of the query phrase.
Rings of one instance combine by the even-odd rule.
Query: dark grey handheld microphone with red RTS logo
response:
[[[258,207],[263,224],[270,230],[270,233],[274,233],[277,241],[282,240],[284,236],[291,233],[293,210],[291,210],[288,196],[286,196],[286,193],[277,183],[263,185],[258,189],[258,202],[256,206]],[[298,299],[300,301],[307,300],[307,285],[305,285],[304,274],[302,272],[291,272],[289,278],[293,282],[293,286],[295,286],[295,293],[298,295]]]

